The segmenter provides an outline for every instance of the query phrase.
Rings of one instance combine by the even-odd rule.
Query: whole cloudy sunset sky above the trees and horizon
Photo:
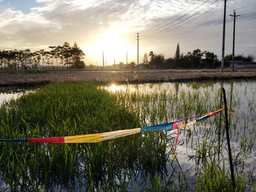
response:
[[[0,0],[0,49],[49,50],[64,42],[85,53],[86,65],[139,63],[150,51],[174,58],[223,46],[224,0]],[[226,1],[225,55],[256,56],[256,1]]]

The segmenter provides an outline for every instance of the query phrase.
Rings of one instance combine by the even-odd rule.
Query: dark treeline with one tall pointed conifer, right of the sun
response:
[[[183,55],[180,51],[179,44],[176,48],[174,58],[164,58],[163,54],[154,54],[153,51],[149,53],[149,61],[147,60],[147,54],[144,55],[143,63],[148,68],[220,68],[221,61],[218,60],[217,55],[209,51],[201,51],[200,49],[193,50]],[[225,66],[228,66],[228,60],[232,60],[232,55],[225,57]],[[252,55],[247,58],[242,55],[235,57],[235,60],[243,60],[244,62],[252,62],[255,57]]]

